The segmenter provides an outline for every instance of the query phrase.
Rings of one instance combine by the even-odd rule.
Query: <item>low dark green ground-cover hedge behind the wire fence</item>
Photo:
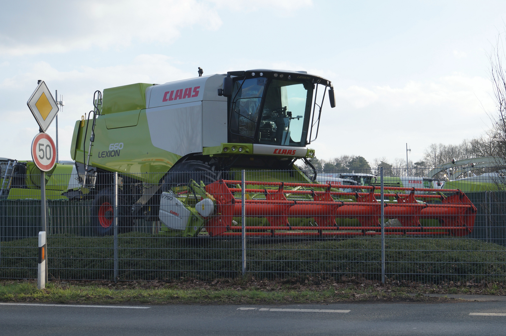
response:
[[[467,237],[386,238],[391,281],[421,283],[506,282],[506,248]],[[160,237],[130,232],[118,238],[119,280],[242,277],[240,239]],[[2,242],[0,278],[35,278],[37,239]],[[49,273],[55,279],[113,278],[113,238],[48,238]],[[257,278],[325,275],[379,280],[378,237],[334,240],[248,239],[247,273]]]

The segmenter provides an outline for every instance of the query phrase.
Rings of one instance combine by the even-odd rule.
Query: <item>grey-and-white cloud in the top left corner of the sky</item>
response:
[[[11,2],[0,14],[0,55],[171,43],[183,28],[218,29],[222,20],[214,7],[197,0]]]

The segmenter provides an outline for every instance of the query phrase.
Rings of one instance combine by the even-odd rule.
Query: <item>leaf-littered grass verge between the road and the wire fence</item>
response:
[[[51,281],[37,290],[35,281],[0,281],[0,301],[81,304],[286,304],[355,301],[446,301],[423,294],[506,295],[498,283],[474,286],[415,285],[396,286],[371,281],[336,283],[332,281],[279,282],[269,280],[221,279],[200,282]],[[415,294],[413,296],[413,294]]]

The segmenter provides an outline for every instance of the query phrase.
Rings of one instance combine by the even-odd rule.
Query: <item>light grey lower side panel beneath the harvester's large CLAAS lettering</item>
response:
[[[180,156],[202,152],[202,102],[146,109],[146,117],[154,147]]]

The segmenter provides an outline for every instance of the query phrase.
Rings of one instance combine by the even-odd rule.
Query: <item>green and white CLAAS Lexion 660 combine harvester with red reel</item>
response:
[[[327,79],[265,69],[96,91],[94,110],[74,128],[81,186],[72,198],[93,199],[95,233],[112,234],[117,172],[120,232],[145,219],[168,236],[237,236],[245,170],[248,236],[378,234],[379,188],[317,180],[310,162],[327,91],[333,108]],[[393,198],[385,216],[400,223],[388,233],[473,229],[476,208],[459,190],[385,190]]]

